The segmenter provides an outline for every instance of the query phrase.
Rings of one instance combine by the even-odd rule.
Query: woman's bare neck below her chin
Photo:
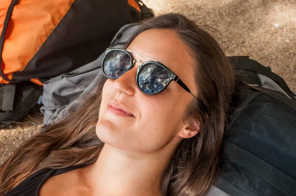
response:
[[[174,152],[172,144],[179,141],[174,140],[150,153],[131,153],[105,143],[97,161],[83,169],[83,181],[95,196],[161,196],[162,176]]]

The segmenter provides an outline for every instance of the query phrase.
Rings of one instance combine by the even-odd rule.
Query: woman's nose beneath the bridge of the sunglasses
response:
[[[140,65],[143,64],[143,62],[139,59],[134,59],[133,61],[133,67],[129,69],[127,72],[125,72],[122,76],[119,78],[115,79],[113,82],[113,87],[117,91],[122,91],[125,92],[128,95],[133,95],[135,94],[138,86],[136,83],[136,74],[137,74],[137,68],[138,66],[136,64],[138,63]]]

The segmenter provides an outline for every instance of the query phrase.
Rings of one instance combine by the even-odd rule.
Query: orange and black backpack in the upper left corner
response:
[[[46,80],[95,60],[119,28],[153,16],[141,0],[8,0],[0,13],[5,125],[41,103]]]

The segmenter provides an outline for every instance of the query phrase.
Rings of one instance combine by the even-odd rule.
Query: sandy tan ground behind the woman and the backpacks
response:
[[[156,15],[179,12],[221,32],[226,55],[250,56],[285,79],[296,92],[295,0],[143,0]],[[30,116],[30,117],[29,117]],[[21,123],[21,124],[20,124]],[[17,146],[39,132],[35,107],[20,122],[0,130],[0,165]]]

